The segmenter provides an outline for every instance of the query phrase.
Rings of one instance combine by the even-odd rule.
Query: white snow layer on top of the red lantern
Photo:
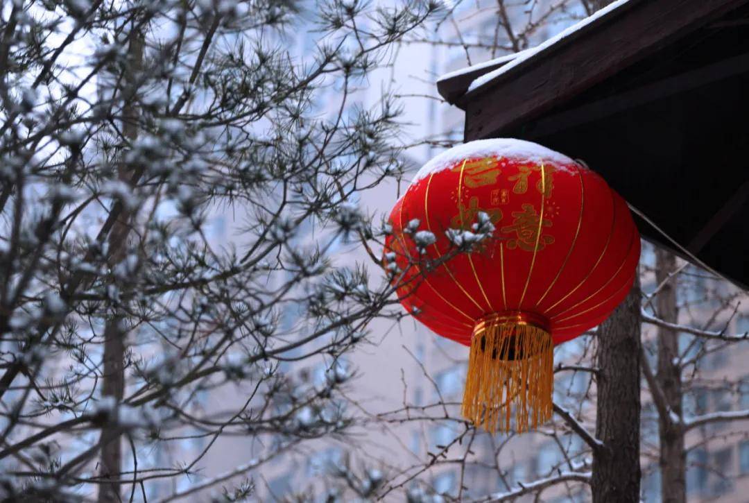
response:
[[[422,178],[426,178],[432,173],[437,173],[443,169],[448,169],[464,159],[471,157],[511,157],[513,159],[524,159],[536,163],[554,163],[555,166],[562,168],[564,165],[577,164],[564,154],[546,148],[538,143],[527,142],[523,139],[515,138],[492,138],[479,139],[473,142],[455,145],[446,151],[438,154],[416,172],[416,176],[411,181],[415,184]]]

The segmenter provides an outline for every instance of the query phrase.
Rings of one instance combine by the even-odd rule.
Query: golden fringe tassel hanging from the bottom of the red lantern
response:
[[[554,343],[542,320],[491,315],[473,328],[462,413],[488,432],[536,430],[551,419]]]

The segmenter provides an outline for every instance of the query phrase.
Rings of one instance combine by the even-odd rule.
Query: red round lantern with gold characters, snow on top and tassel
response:
[[[470,142],[419,170],[395,203],[384,262],[398,298],[470,346],[463,414],[518,432],[552,414],[554,346],[627,295],[640,236],[584,166],[515,139]]]

